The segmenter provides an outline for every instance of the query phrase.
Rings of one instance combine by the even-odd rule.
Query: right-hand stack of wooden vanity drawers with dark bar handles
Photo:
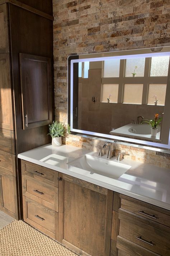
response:
[[[114,192],[110,256],[169,256],[169,241],[170,211]]]

